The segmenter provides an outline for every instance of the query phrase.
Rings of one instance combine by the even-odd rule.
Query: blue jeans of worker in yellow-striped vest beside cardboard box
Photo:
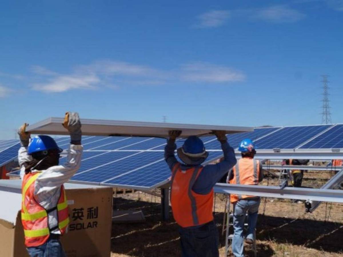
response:
[[[45,244],[26,249],[31,257],[67,257],[59,239],[49,238]]]

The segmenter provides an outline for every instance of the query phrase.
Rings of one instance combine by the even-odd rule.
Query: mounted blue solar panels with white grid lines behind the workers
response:
[[[244,138],[255,140],[258,149],[343,148],[343,124],[257,128],[253,132],[228,135],[237,148]],[[209,151],[208,162],[222,155],[214,136],[202,137]],[[63,150],[69,137],[56,138]],[[184,139],[177,140],[180,147]],[[13,142],[12,142],[13,143]],[[71,178],[75,183],[104,184],[118,187],[151,189],[167,182],[170,170],[164,161],[166,140],[147,137],[83,136],[84,152],[79,171]],[[1,147],[1,142],[0,142]],[[11,148],[11,147],[10,147]],[[7,148],[7,158],[15,158],[19,145]],[[1,148],[0,148],[1,149]],[[4,151],[4,152],[5,152]],[[3,152],[0,152],[0,158]],[[12,154],[12,155],[11,155]],[[15,155],[14,155],[15,154]],[[5,156],[5,155],[4,155]],[[6,157],[4,157],[5,159]],[[61,163],[65,160],[61,158]]]

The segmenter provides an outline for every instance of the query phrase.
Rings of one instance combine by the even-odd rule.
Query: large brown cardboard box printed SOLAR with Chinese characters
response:
[[[70,224],[61,242],[68,257],[110,256],[112,188],[65,184]],[[0,180],[0,256],[28,256],[21,224],[21,180]]]

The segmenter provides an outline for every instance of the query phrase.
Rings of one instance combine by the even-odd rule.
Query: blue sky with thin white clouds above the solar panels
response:
[[[0,138],[65,111],[218,125],[343,123],[343,1],[7,1]]]

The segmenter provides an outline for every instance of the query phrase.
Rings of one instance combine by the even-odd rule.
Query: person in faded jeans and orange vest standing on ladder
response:
[[[251,139],[244,139],[238,151],[242,158],[238,160],[236,166],[229,172],[228,182],[240,185],[258,185],[263,180],[262,163],[254,159],[256,154],[255,145]],[[260,197],[249,195],[230,195],[230,202],[233,204],[234,217],[234,237],[232,240],[232,252],[235,257],[244,257],[244,223],[248,212],[248,230],[246,243],[253,244],[255,240],[255,228],[257,223]]]

